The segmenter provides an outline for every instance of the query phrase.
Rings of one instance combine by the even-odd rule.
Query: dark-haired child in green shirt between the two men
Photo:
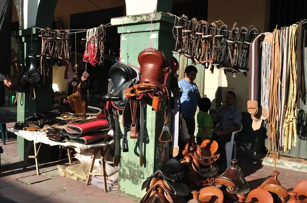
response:
[[[208,111],[211,107],[211,101],[209,98],[204,97],[199,102],[200,112],[197,114],[198,133],[196,135],[196,141],[199,145],[206,139],[211,139],[211,128],[213,128],[213,120]]]

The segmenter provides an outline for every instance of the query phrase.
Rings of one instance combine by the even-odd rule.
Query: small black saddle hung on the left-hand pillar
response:
[[[29,67],[28,71],[24,74],[22,81],[28,81],[31,84],[37,83],[40,80],[39,77],[39,62],[37,58],[28,56],[25,59],[26,67]]]

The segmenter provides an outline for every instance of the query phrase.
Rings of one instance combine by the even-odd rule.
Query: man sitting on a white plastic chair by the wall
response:
[[[223,166],[224,164],[226,165],[225,144],[230,142],[232,132],[239,129],[240,121],[242,119],[241,112],[236,106],[234,106],[234,102],[235,93],[232,91],[226,92],[225,105],[218,108],[213,117],[214,128],[218,124],[218,128],[214,130],[214,134],[218,143],[218,151],[220,151],[221,154],[217,161]]]

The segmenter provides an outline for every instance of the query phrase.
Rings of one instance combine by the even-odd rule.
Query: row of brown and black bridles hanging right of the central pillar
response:
[[[176,18],[176,46],[173,53],[183,54],[194,64],[203,64],[205,68],[210,68],[211,73],[214,68],[221,68],[225,73],[231,72],[234,77],[237,72],[247,76],[249,44],[260,31],[257,28],[239,29],[235,24],[229,31],[225,23],[218,29],[216,23],[220,22],[208,23],[196,18],[189,20],[186,15]]]

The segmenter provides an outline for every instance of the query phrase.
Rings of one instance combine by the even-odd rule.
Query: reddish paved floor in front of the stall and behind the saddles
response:
[[[8,123],[8,126],[13,123]],[[2,142],[1,142],[2,145]],[[119,192],[104,193],[100,188],[85,186],[84,181],[75,181],[58,174],[56,165],[67,166],[68,160],[40,164],[41,175],[36,175],[35,166],[23,169],[23,161],[17,158],[17,141],[10,138],[3,145],[4,154],[1,155],[0,202],[137,202],[139,199],[130,198]],[[75,160],[74,163],[77,161]],[[242,168],[251,190],[257,188],[272,175],[272,166],[261,163],[238,163]],[[289,191],[303,179],[307,173],[276,168],[280,175],[278,180]],[[8,200],[10,199],[10,200]]]

